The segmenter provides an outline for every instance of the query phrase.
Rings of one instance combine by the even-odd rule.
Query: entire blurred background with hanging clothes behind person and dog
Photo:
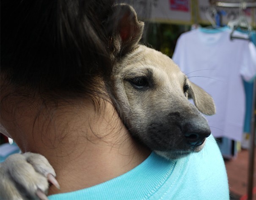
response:
[[[117,0],[145,22],[142,43],[211,94],[206,116],[225,160],[230,199],[256,200],[256,0]],[[0,158],[19,149],[1,134]],[[218,191],[216,191],[218,192]]]

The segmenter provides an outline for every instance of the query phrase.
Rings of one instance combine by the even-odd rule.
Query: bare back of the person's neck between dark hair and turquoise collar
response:
[[[99,112],[93,104],[85,105],[59,107],[51,116],[39,115],[37,120],[31,113],[22,113],[24,137],[17,137],[17,144],[24,152],[44,155],[55,169],[61,189],[51,186],[49,195],[113,179],[150,154],[132,139],[109,102],[105,101]]]

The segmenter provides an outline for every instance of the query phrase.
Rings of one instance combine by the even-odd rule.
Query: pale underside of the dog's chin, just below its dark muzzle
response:
[[[179,158],[182,157],[186,157],[188,155],[190,155],[190,153],[196,153],[196,152],[200,152],[205,145],[205,141],[203,144],[201,144],[200,146],[197,147],[193,147],[192,149],[184,149],[184,150],[168,150],[168,151],[157,151],[154,150],[154,152],[157,155],[160,155],[168,160],[177,160]]]

